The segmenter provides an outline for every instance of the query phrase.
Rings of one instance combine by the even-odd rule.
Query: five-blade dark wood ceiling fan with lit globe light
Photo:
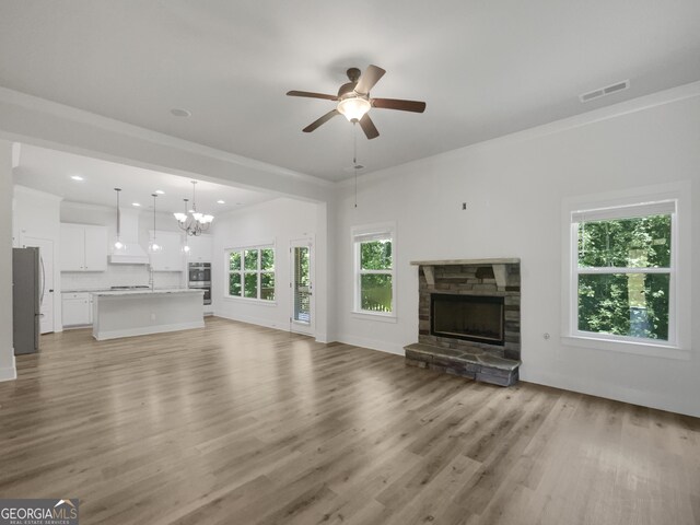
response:
[[[386,73],[386,71],[376,66],[369,66],[362,75],[358,68],[350,68],[348,69],[348,79],[350,82],[342,84],[338,90],[337,95],[310,93],[308,91],[289,91],[287,93],[289,96],[325,98],[327,101],[337,102],[335,109],[331,109],[323,117],[314,120],[312,124],[306,126],[303,131],[305,133],[310,133],[336,115],[343,115],[351,122],[360,122],[360,127],[364,131],[364,135],[366,135],[368,139],[375,139],[380,136],[380,132],[368,114],[372,107],[400,109],[401,112],[413,113],[423,113],[425,110],[424,102],[370,97],[370,90],[374,88],[384,73]]]

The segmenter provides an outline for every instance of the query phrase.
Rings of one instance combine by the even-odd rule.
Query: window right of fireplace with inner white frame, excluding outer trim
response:
[[[676,343],[675,199],[571,213],[571,334]]]

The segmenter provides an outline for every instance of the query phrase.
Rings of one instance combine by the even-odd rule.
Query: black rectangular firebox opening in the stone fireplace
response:
[[[502,296],[431,293],[430,332],[436,337],[503,346],[503,306]]]

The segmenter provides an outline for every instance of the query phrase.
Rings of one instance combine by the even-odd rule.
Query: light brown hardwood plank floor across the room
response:
[[[81,524],[698,524],[700,420],[210,318],[49,335],[0,384],[0,498]]]

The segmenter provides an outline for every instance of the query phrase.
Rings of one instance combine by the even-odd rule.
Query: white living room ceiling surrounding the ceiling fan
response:
[[[287,91],[375,63],[374,96],[425,101],[372,109],[375,171],[700,80],[699,28],[698,0],[4,1],[0,85],[339,180],[352,126],[302,133],[332,103]]]

